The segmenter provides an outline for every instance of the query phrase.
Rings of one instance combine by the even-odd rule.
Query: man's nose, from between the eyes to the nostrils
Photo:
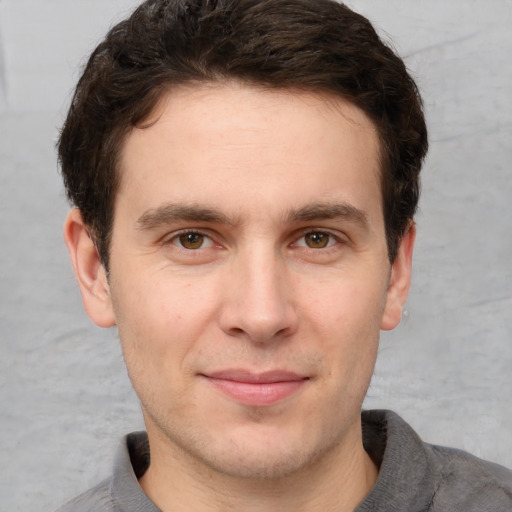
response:
[[[219,315],[221,329],[253,343],[291,336],[298,316],[285,264],[271,250],[239,255],[228,271]]]

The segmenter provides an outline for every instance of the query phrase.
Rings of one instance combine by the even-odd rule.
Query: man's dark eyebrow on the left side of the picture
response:
[[[151,230],[178,221],[236,224],[236,221],[215,208],[168,203],[144,212],[136,226],[141,230]]]

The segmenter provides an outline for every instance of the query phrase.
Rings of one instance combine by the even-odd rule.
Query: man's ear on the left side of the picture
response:
[[[110,287],[98,250],[92,241],[80,210],[71,210],[64,222],[64,241],[82,293],[89,318],[100,327],[116,324]]]

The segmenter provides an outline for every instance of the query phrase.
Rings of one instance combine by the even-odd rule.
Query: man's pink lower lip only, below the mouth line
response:
[[[208,378],[211,384],[224,395],[237,402],[253,407],[276,404],[296,393],[307,379],[283,382],[239,382],[226,379]]]

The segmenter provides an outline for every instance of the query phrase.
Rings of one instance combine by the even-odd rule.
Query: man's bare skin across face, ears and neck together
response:
[[[108,279],[77,210],[64,228],[142,404],[143,489],[162,510],[353,510],[377,478],[360,411],[415,234],[391,264],[372,122],[236,83],[167,93],[149,121],[122,151]],[[297,382],[226,392],[226,371]]]

